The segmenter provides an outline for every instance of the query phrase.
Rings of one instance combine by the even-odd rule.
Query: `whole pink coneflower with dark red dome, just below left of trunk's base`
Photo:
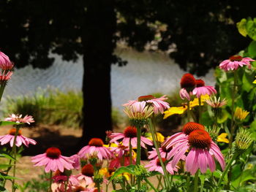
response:
[[[45,153],[36,155],[31,159],[35,163],[34,166],[45,165],[45,172],[56,172],[58,169],[60,172],[64,172],[64,169],[70,170],[74,168],[72,166],[74,162],[69,157],[61,155],[61,150],[56,147],[50,147]]]

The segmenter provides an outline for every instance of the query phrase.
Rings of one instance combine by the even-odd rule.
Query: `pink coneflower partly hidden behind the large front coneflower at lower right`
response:
[[[203,125],[201,125],[200,123],[195,123],[195,122],[189,122],[186,123],[183,128],[182,128],[182,132],[178,132],[176,134],[173,134],[172,136],[170,136],[169,138],[167,138],[165,140],[165,142],[162,142],[162,146],[166,147],[167,149],[173,147],[173,143],[175,143],[177,140],[179,139],[187,139],[188,135],[195,130],[198,129],[205,129],[205,127]],[[171,153],[168,153],[168,155],[173,155]]]

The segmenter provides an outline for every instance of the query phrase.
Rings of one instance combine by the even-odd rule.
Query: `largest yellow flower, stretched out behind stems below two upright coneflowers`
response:
[[[204,101],[206,101],[206,99],[209,99],[210,96],[208,96],[207,94],[204,96],[201,96],[201,104],[203,104]],[[193,101],[189,102],[190,105],[190,110],[193,107],[196,107],[199,105],[199,101],[197,98],[195,98]],[[169,117],[170,115],[174,115],[174,114],[178,114],[181,115],[183,114],[185,111],[187,111],[187,105],[181,106],[181,107],[170,107],[168,110],[166,110],[164,112],[165,116],[164,119],[166,119],[167,117]]]

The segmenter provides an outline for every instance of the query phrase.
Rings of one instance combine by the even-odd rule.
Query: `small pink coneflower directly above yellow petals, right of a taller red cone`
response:
[[[193,95],[196,95],[197,98],[200,96],[208,95],[211,96],[212,94],[216,94],[217,91],[213,86],[206,86],[203,80],[196,80],[196,88],[192,91]]]

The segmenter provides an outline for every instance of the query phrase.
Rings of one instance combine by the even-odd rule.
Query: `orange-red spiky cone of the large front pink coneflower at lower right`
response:
[[[200,149],[209,149],[211,137],[205,130],[195,130],[189,134],[189,145]]]

